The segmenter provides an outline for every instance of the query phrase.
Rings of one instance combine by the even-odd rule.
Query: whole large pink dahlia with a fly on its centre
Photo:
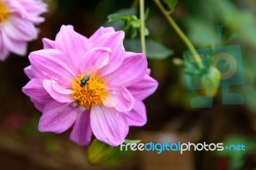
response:
[[[88,145],[92,134],[120,145],[129,125],[147,122],[142,100],[157,88],[147,74],[143,53],[125,52],[124,32],[100,27],[90,38],[63,25],[55,41],[44,38],[44,50],[31,52],[31,79],[22,91],[42,111],[38,129],[61,133]]]

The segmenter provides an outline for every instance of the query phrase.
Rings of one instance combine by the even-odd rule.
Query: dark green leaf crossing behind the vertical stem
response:
[[[125,39],[124,46],[127,51],[141,53],[139,39]],[[146,40],[146,50],[148,59],[166,59],[173,54],[173,50],[152,39]]]

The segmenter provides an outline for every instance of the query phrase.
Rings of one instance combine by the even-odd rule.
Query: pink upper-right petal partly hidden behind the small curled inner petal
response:
[[[115,71],[124,61],[125,49],[123,45],[124,32],[108,32],[102,34],[97,38],[93,44],[93,47],[109,47],[112,52],[109,53],[109,64],[99,69],[100,76],[105,76]]]

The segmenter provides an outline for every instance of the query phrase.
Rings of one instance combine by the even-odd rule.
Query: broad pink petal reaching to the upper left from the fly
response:
[[[77,77],[67,64],[70,60],[59,50],[45,49],[29,54],[31,70],[36,77],[53,79],[63,87],[71,87]]]

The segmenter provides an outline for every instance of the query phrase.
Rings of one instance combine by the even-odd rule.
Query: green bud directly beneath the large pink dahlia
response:
[[[108,160],[115,152],[116,148],[114,146],[102,143],[98,139],[93,139],[92,143],[87,149],[87,161],[92,166],[97,166]]]

